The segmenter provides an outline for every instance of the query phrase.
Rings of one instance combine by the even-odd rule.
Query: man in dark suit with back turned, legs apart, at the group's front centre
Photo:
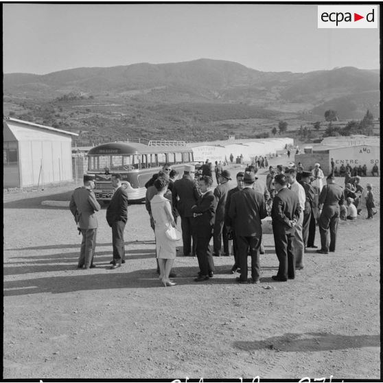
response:
[[[259,248],[262,242],[262,222],[267,216],[263,194],[253,190],[255,175],[244,174],[244,188],[231,197],[229,217],[234,226],[238,246],[238,260],[241,276],[240,283],[247,283],[247,255],[251,255],[251,282],[259,283]]]

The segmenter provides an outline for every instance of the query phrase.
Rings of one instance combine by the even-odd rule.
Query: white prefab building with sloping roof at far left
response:
[[[72,181],[76,133],[14,118],[3,119],[3,187]]]

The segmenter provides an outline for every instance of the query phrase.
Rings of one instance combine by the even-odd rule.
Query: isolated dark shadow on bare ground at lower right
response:
[[[340,335],[326,332],[289,333],[283,336],[272,336],[265,340],[238,340],[233,343],[233,346],[245,351],[273,349],[284,352],[356,349],[380,347],[380,335]]]

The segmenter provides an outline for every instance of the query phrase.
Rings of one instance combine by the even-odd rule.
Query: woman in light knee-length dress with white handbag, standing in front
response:
[[[165,231],[170,227],[176,227],[176,222],[172,214],[170,200],[164,197],[169,181],[159,177],[154,181],[157,194],[150,200],[152,217],[154,220],[154,234],[156,235],[156,253],[159,260],[160,276],[164,286],[175,286],[176,283],[170,281],[169,274],[176,258],[176,242],[169,240]]]

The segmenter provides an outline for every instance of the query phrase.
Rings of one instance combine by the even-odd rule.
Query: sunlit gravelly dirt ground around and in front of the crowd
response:
[[[259,285],[235,283],[233,257],[215,257],[213,279],[196,283],[197,259],[180,256],[178,284],[165,288],[144,205],[128,209],[123,267],[108,270],[103,207],[97,268],[76,269],[69,209],[41,205],[74,187],[4,195],[4,379],[380,378],[380,212],[340,222],[336,253],[308,250],[294,281],[271,279],[278,262],[264,235]]]

